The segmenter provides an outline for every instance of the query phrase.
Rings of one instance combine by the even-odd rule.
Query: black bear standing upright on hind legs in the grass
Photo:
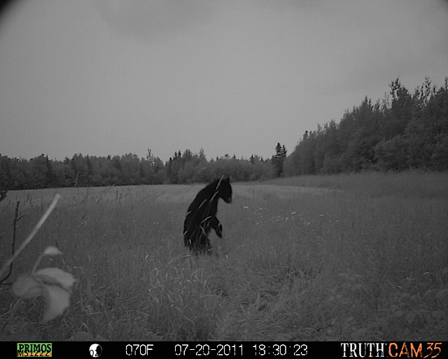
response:
[[[195,255],[200,253],[211,255],[208,236],[212,228],[219,238],[223,238],[223,226],[216,218],[219,198],[223,198],[225,203],[232,202],[232,186],[230,186],[229,177],[223,176],[201,189],[188,207],[187,216],[183,222],[183,241]]]

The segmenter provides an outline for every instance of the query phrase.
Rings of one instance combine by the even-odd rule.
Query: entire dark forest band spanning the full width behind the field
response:
[[[271,158],[226,154],[207,160],[204,151],[176,151],[163,163],[148,149],[136,154],[74,154],[63,161],[41,154],[29,160],[0,154],[0,189],[99,187],[133,184],[210,182],[230,175],[234,182],[272,177],[409,169],[448,170],[448,77],[437,88],[427,77],[414,93],[399,79],[383,100],[365,97],[347,109],[339,123],[330,121],[306,131],[287,156],[284,145],[272,146]]]

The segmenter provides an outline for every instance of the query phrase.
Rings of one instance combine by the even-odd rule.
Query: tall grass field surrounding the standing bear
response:
[[[77,278],[62,316],[0,286],[1,340],[448,340],[448,175],[302,176],[232,184],[219,257],[192,257],[183,219],[203,185],[10,191],[0,263],[55,193],[62,199],[16,259]],[[16,245],[16,247],[18,244]],[[11,315],[13,314],[13,315]],[[0,329],[1,329],[0,328]]]

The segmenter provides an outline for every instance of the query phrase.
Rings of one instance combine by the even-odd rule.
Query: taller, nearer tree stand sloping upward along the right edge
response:
[[[384,100],[365,97],[341,121],[305,132],[284,163],[285,175],[448,170],[448,78],[433,86],[426,77],[414,93],[392,81]]]

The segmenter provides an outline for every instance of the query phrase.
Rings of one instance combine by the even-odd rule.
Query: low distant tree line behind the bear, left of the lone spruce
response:
[[[204,150],[193,154],[176,151],[163,163],[148,149],[146,158],[124,156],[84,156],[75,154],[64,161],[41,154],[31,158],[0,155],[0,189],[38,189],[56,187],[99,187],[133,184],[188,184],[211,182],[221,175],[233,181],[257,181],[274,177],[278,160],[252,155],[248,159],[227,154],[207,161]]]

